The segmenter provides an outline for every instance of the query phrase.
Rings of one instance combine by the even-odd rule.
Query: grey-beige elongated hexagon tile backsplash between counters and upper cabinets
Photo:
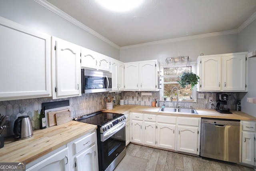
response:
[[[180,102],[181,107],[201,108],[210,109],[210,103],[208,102],[209,97],[213,98],[214,105],[216,105],[216,93],[211,92],[200,92],[204,93],[204,99],[197,99],[197,103],[191,102]],[[239,93],[231,94],[230,109],[236,109],[236,102],[239,99]],[[71,117],[78,117],[101,109],[106,108],[106,102],[104,101],[105,96],[115,96],[116,102],[113,105],[119,105],[119,100],[124,99],[124,104],[128,105],[146,105],[151,106],[151,102],[159,98],[159,91],[153,91],[151,96],[143,96],[139,91],[123,91],[122,93],[90,93],[82,94],[79,97],[70,97],[65,99],[53,100],[51,97],[48,98],[34,98],[34,99],[20,99],[10,101],[0,101],[0,113],[2,115],[8,115],[7,128],[2,132],[1,135],[10,136],[13,135],[14,121],[22,115],[28,115],[32,121],[33,129],[39,129],[39,114],[38,111],[42,109],[42,103],[52,101],[70,101]],[[198,97],[198,92],[197,92]],[[170,101],[160,101],[160,105],[165,103],[166,107],[170,107],[172,104]]]

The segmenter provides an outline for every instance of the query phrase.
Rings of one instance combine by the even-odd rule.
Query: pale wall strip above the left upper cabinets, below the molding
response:
[[[33,0],[0,0],[0,16],[119,60],[119,50]]]

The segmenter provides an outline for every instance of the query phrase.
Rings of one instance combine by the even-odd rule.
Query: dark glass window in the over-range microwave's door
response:
[[[105,77],[85,76],[85,89],[102,89],[106,88]]]

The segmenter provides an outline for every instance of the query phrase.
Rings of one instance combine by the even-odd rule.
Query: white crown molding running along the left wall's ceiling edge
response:
[[[65,20],[71,22],[72,24],[78,26],[79,28],[85,30],[86,32],[96,36],[97,38],[99,38],[100,40],[110,44],[111,46],[113,46],[114,48],[117,48],[118,50],[120,50],[120,46],[114,44],[113,42],[111,42],[110,40],[108,40],[107,38],[105,38],[104,36],[102,36],[101,34],[98,34],[97,32],[95,32],[94,30],[92,30],[91,28],[89,28],[88,26],[82,24],[81,22],[79,22],[78,20],[74,19],[73,17],[71,17],[70,15],[66,14],[65,12],[63,12],[62,10],[60,10],[59,8],[56,8],[54,5],[50,4],[49,2],[47,2],[46,0],[34,0],[34,2],[42,5],[44,8],[47,8],[48,10],[54,12],[55,14],[57,14],[58,16],[64,18]]]

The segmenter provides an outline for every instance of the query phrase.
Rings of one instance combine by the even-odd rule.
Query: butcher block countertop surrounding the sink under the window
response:
[[[106,110],[104,112],[110,113],[123,113],[128,112],[139,112],[139,113],[149,113],[149,114],[161,114],[161,115],[172,115],[172,116],[186,116],[186,117],[208,117],[216,119],[237,119],[244,121],[256,121],[256,117],[243,113],[241,111],[231,111],[232,114],[219,113],[215,109],[196,109],[198,114],[181,114],[172,112],[158,112],[160,107],[151,106],[140,106],[140,105],[118,105],[114,106],[112,110]]]

